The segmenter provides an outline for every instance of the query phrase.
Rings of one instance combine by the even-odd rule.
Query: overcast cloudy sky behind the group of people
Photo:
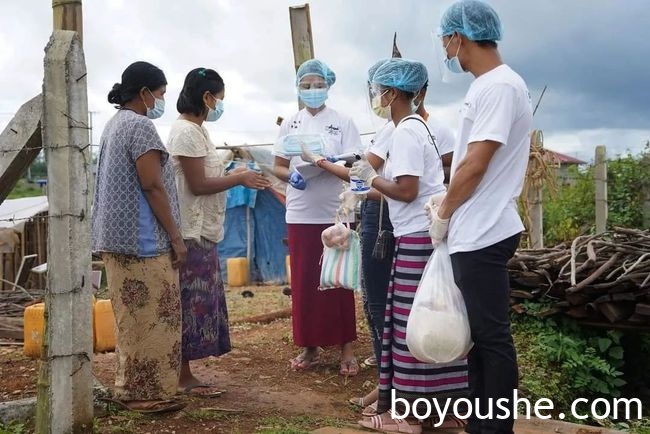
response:
[[[51,0],[2,0],[0,127],[42,85],[43,48],[52,30]],[[316,57],[337,74],[328,104],[372,131],[367,69],[390,56],[392,35],[404,57],[429,68],[429,111],[456,129],[471,81],[440,80],[434,38],[449,0],[312,0]],[[501,16],[504,61],[527,81],[536,101],[534,127],[548,148],[591,160],[605,144],[615,155],[650,139],[650,7],[647,0],[492,0]],[[216,69],[226,83],[225,113],[208,124],[222,144],[268,143],[277,116],[297,110],[285,0],[102,0],[84,2],[84,49],[94,142],[115,110],[113,83],[136,60],[160,67],[169,82],[167,110],[154,121],[164,141],[178,116],[187,72]]]

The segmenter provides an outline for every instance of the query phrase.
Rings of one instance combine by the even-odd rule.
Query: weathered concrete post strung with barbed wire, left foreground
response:
[[[48,155],[46,326],[36,432],[89,432],[93,423],[90,151],[86,66],[78,33],[45,49],[43,145]]]

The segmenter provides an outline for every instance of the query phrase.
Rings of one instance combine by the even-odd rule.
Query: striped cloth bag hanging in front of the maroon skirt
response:
[[[323,247],[319,289],[361,291],[361,242],[353,230],[349,237],[347,249]]]

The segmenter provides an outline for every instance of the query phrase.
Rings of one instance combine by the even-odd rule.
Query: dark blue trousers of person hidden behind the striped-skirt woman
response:
[[[378,261],[372,257],[372,250],[379,232],[378,200],[366,200],[361,208],[361,273],[363,278],[363,309],[368,319],[372,347],[377,358],[381,360],[381,340],[384,333],[384,316],[386,297],[390,283],[393,251],[386,258]],[[388,204],[384,201],[382,230],[393,230],[388,217]]]

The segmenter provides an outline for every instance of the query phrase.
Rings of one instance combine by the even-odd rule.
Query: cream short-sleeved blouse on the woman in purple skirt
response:
[[[226,193],[194,195],[178,159],[203,157],[206,178],[224,176],[223,162],[210,140],[208,130],[194,122],[178,119],[169,132],[167,150],[174,166],[183,238],[200,241],[203,237],[213,243],[220,242],[223,240],[223,222],[226,216]]]

